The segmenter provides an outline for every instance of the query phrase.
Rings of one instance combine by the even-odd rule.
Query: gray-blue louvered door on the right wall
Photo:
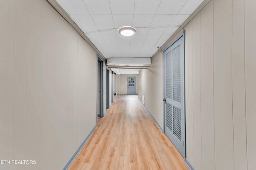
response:
[[[184,36],[164,51],[164,133],[185,158]]]

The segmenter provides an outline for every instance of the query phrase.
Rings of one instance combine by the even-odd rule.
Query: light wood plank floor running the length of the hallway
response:
[[[138,95],[114,97],[69,170],[188,170]]]

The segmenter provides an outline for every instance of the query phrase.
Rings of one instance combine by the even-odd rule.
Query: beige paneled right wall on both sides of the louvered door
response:
[[[212,0],[184,27],[186,157],[196,170],[256,166],[255,10],[255,0]],[[162,62],[162,53],[150,69],[157,58]],[[154,71],[158,76],[150,69],[139,73],[139,98],[145,95],[160,126],[162,87],[152,98],[156,83],[148,83],[162,83],[161,64]]]

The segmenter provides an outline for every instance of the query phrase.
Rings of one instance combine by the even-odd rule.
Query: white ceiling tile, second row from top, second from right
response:
[[[151,27],[167,27],[176,15],[156,15]]]

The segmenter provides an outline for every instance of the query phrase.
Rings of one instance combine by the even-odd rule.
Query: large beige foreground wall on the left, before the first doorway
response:
[[[0,0],[0,27],[0,160],[36,160],[0,169],[61,169],[96,125],[96,52],[46,0]]]

